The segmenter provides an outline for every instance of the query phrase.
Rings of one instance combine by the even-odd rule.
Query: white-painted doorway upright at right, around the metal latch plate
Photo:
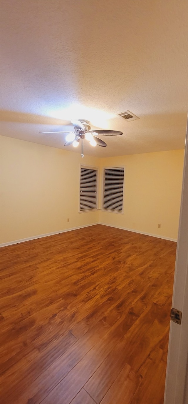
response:
[[[172,307],[182,322],[171,321],[164,404],[188,404],[188,126]]]

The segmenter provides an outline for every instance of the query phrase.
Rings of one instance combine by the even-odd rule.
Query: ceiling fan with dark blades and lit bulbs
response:
[[[106,147],[107,143],[105,143],[102,139],[99,139],[100,136],[118,136],[123,135],[123,132],[119,132],[118,130],[90,130],[91,125],[90,122],[86,119],[72,120],[71,124],[74,126],[75,130],[72,132],[40,132],[40,133],[66,133],[66,143],[65,146],[73,145],[73,147],[77,147],[79,145],[79,141],[81,139],[81,157],[84,157],[84,139],[90,142],[91,146],[101,146]]]

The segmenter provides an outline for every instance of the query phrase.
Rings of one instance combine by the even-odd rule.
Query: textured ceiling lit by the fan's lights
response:
[[[71,118],[121,130],[98,157],[184,147],[187,1],[1,1],[1,134],[64,147]],[[130,110],[140,119],[117,114]],[[62,126],[63,125],[63,126]],[[87,143],[85,141],[85,143]],[[79,146],[80,147],[80,146]]]

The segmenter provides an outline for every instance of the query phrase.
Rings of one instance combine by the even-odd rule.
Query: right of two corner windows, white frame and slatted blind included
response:
[[[123,181],[124,168],[104,168],[103,209],[123,212]]]

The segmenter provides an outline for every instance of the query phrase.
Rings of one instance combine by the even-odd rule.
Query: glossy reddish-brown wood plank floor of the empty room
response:
[[[162,404],[175,252],[102,225],[1,248],[1,404]]]

